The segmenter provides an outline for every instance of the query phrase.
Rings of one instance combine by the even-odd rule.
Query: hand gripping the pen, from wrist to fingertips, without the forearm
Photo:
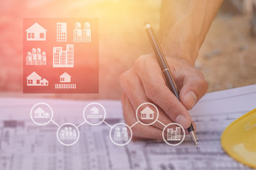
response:
[[[180,89],[180,101],[166,86],[156,57],[142,55],[131,69],[120,76],[120,83],[124,88],[121,100],[126,124],[137,122],[135,111],[141,103],[146,102],[158,107],[158,120],[163,124],[177,122],[184,128],[191,124],[188,110],[204,96],[207,83],[203,74],[185,60],[170,57],[166,57],[166,60]],[[163,128],[159,122],[151,126],[137,124],[132,127],[134,136],[151,139],[162,139]]]

